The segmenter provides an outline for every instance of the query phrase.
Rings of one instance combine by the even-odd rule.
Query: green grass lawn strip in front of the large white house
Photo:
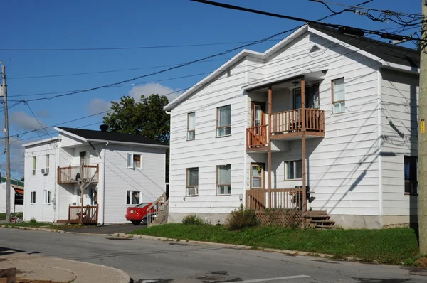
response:
[[[381,230],[314,230],[278,227],[230,231],[224,226],[166,224],[135,230],[133,234],[199,240],[260,248],[325,253],[356,257],[367,262],[401,265],[418,254],[416,233],[411,228]]]

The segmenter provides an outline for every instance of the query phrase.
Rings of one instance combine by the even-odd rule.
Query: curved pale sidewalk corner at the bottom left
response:
[[[16,268],[16,282],[19,282],[18,279],[60,283],[130,282],[130,277],[122,270],[103,265],[38,255],[14,254],[0,257],[0,269],[13,267]]]

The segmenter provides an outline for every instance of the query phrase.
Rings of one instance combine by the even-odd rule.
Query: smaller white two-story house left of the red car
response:
[[[58,137],[23,145],[24,220],[125,223],[127,207],[156,201],[165,192],[169,146],[106,132],[103,125],[101,131],[55,129]]]

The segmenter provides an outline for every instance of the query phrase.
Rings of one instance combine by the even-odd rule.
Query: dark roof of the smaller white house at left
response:
[[[114,132],[95,131],[92,129],[74,129],[67,127],[58,127],[58,129],[62,129],[70,134],[75,134],[78,137],[83,137],[83,139],[100,139],[102,141],[110,142],[133,142],[137,144],[156,144],[167,146],[167,144],[164,144],[163,142],[154,141],[137,134],[120,134]]]

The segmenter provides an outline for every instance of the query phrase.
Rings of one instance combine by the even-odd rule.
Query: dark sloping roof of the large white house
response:
[[[420,68],[420,52],[415,49],[395,46],[371,38],[347,36],[338,33],[337,29],[310,23],[311,28],[337,38],[339,41],[350,44],[356,48],[371,53],[387,62],[406,65],[408,67]]]

